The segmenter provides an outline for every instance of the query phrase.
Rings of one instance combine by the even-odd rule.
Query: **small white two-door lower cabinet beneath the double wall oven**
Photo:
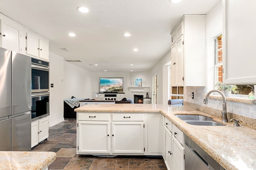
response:
[[[31,147],[49,137],[49,116],[31,122]]]

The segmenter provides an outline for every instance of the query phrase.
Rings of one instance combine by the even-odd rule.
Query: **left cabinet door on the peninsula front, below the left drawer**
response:
[[[78,152],[110,154],[110,122],[78,121]]]

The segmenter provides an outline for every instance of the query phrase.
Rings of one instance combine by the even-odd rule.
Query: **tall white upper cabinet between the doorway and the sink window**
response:
[[[206,15],[184,15],[171,37],[172,86],[205,86]]]

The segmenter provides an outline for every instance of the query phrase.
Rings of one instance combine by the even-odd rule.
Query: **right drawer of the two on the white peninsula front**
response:
[[[144,115],[132,113],[113,114],[113,121],[144,121]]]

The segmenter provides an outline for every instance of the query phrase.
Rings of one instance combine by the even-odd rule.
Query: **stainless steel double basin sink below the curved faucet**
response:
[[[225,126],[221,123],[214,121],[212,118],[204,115],[175,115],[175,116],[190,125]]]

